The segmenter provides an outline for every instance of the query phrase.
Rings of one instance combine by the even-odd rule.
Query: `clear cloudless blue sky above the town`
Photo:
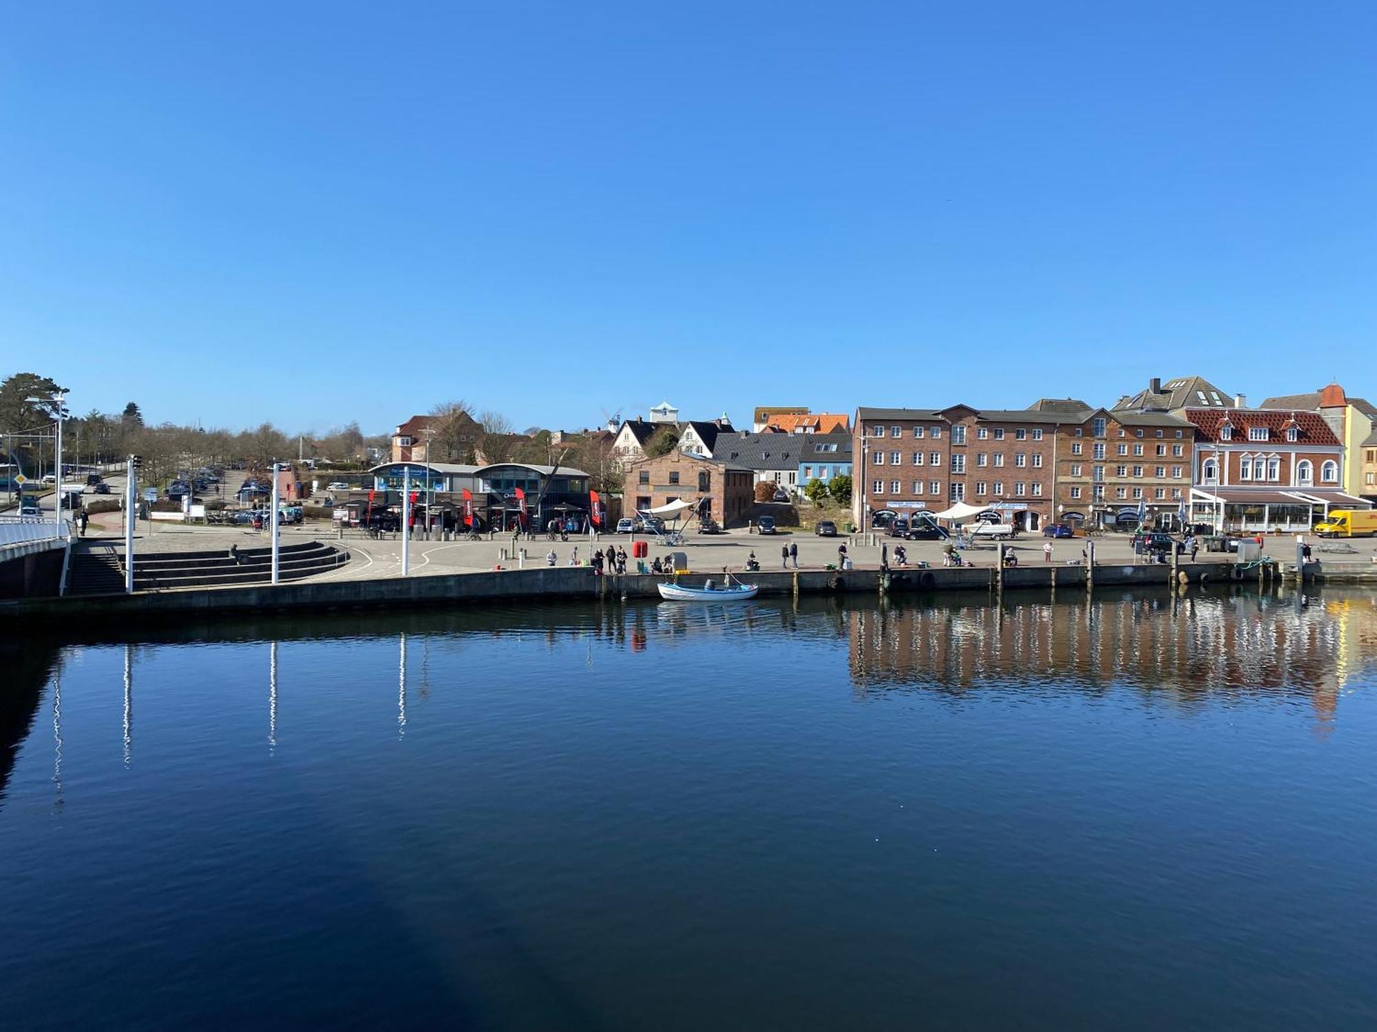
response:
[[[7,8],[0,372],[78,411],[1377,395],[1373,3]]]

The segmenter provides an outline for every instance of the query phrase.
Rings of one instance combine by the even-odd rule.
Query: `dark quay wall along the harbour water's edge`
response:
[[[1219,582],[1231,579],[1230,568],[1220,564],[1183,564],[1191,581],[1208,574]],[[761,571],[750,579],[760,585],[761,596],[872,593],[881,589],[909,592],[985,592],[1000,590],[993,567],[956,567],[932,570],[896,570],[888,578],[879,570],[799,570]],[[1155,586],[1170,582],[1166,566],[1096,566],[1095,586]],[[1249,570],[1239,577],[1256,583]],[[680,578],[682,583],[701,585],[706,575]],[[138,592],[135,594],[76,596],[65,599],[0,600],[0,616],[17,619],[65,621],[168,621],[200,619],[212,614],[277,611],[332,611],[359,608],[414,608],[456,603],[481,603],[496,599],[655,599],[657,578],[627,574],[593,577],[588,567],[537,567],[474,574],[432,577],[392,577],[359,581],[297,581],[281,585],[244,585],[237,588]],[[1002,590],[1085,590],[1086,570],[1080,566],[1027,566],[1004,571]]]

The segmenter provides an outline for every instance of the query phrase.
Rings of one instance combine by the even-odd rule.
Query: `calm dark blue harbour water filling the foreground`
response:
[[[1377,1026],[1377,594],[0,660],[6,1028]]]

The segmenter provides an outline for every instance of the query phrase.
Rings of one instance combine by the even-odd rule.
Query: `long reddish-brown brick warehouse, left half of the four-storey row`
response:
[[[1060,403],[1059,403],[1060,405]],[[994,509],[1020,530],[1053,517],[1058,428],[1089,406],[1015,410],[858,409],[852,515],[942,512],[956,502]]]

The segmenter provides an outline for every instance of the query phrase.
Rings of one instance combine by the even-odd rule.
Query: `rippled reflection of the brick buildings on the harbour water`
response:
[[[850,666],[865,695],[895,685],[965,691],[1019,680],[1136,682],[1181,700],[1212,689],[1310,696],[1323,718],[1377,656],[1377,597],[1297,604],[1268,594],[891,605],[848,614]]]

